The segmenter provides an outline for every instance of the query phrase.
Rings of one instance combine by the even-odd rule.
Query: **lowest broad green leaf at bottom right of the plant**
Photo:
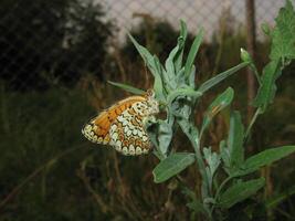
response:
[[[235,203],[241,202],[254,194],[259,189],[264,186],[264,178],[234,183],[220,196],[220,200],[218,203],[221,208],[231,208]]]

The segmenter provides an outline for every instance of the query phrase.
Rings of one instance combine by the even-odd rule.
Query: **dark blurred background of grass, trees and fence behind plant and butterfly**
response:
[[[251,2],[253,3],[251,7]],[[186,199],[171,182],[155,185],[155,156],[124,157],[93,145],[81,128],[99,109],[129,94],[107,81],[147,90],[152,78],[126,38],[130,32],[164,61],[176,45],[179,20],[188,42],[203,27],[197,83],[240,62],[240,48],[267,62],[263,22],[274,25],[284,0],[1,0],[0,1],[0,220],[188,220]],[[294,2],[293,2],[294,3]],[[253,25],[254,24],[254,25]],[[253,41],[250,41],[253,40]],[[278,82],[275,103],[259,119],[247,154],[295,144],[294,63]],[[210,101],[233,86],[233,108],[244,123],[255,84],[243,70],[208,93],[196,109],[200,125]],[[203,143],[218,149],[228,114],[217,117]],[[173,148],[191,147],[177,134]],[[294,189],[294,156],[261,172],[260,202]],[[181,173],[198,192],[193,168]],[[295,217],[292,196],[268,211]]]

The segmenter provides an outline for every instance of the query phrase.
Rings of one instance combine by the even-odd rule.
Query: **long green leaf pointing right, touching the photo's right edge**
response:
[[[261,151],[257,155],[247,158],[234,176],[236,177],[254,172],[261,167],[271,165],[272,162],[293,154],[294,151],[295,146],[283,146]]]

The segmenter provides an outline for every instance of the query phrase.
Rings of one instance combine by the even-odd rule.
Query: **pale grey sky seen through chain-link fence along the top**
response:
[[[167,20],[173,27],[178,27],[179,19],[183,19],[191,32],[203,27],[207,38],[210,39],[213,31],[219,28],[219,20],[230,13],[236,24],[245,24],[244,0],[104,0],[103,6],[108,17],[115,19],[120,28],[122,35],[133,25],[138,24],[136,14],[149,14],[152,18]],[[255,20],[257,27],[262,22],[273,23],[274,18],[284,0],[257,0],[255,1]],[[259,32],[259,34],[261,34]],[[120,35],[120,36],[122,36]]]

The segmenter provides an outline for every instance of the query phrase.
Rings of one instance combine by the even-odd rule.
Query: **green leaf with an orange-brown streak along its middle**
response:
[[[203,124],[201,134],[207,129],[212,118],[221,112],[224,107],[229,106],[233,99],[234,92],[232,87],[228,87],[222,94],[220,94],[208,107],[203,117]]]

